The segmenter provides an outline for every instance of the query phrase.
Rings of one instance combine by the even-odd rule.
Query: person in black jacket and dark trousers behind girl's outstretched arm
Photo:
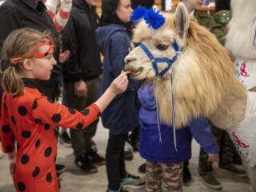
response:
[[[76,110],[96,101],[98,78],[102,74],[100,50],[94,37],[99,26],[96,2],[74,0],[70,19],[62,31],[63,50],[70,50],[70,58],[65,62],[63,71],[66,102],[68,107]],[[75,164],[86,173],[97,172],[94,162],[105,163],[105,159],[91,147],[97,123],[92,123],[85,130],[70,130]]]

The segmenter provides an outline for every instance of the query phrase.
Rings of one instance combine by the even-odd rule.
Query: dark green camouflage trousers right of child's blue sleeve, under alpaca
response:
[[[225,130],[218,129],[217,126],[214,126],[210,122],[211,126],[211,132],[214,134],[214,137],[216,139],[216,142],[219,146],[219,162],[218,165],[227,165],[230,164],[233,160],[233,155],[235,153],[235,146],[230,139],[229,134],[226,133]],[[212,168],[212,162],[208,162],[208,155],[204,150],[202,150],[202,147],[200,149],[199,154],[199,173],[200,174],[206,174],[210,173]]]

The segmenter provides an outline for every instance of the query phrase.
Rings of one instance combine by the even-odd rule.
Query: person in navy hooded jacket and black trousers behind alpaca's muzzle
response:
[[[102,27],[96,30],[96,39],[104,56],[101,95],[110,82],[125,70],[124,58],[132,49],[130,15],[133,10],[130,0],[103,0]],[[126,173],[124,146],[129,131],[138,127],[139,82],[129,80],[126,92],[119,94],[102,113],[102,124],[110,130],[106,146],[106,174],[108,190],[126,191],[122,186],[142,188],[145,182]]]

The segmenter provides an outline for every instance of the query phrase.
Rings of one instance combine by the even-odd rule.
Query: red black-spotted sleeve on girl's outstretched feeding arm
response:
[[[36,122],[73,129],[86,128],[98,119],[99,112],[100,110],[95,103],[79,112],[52,102],[50,98],[45,96],[34,99],[32,106],[32,116]]]

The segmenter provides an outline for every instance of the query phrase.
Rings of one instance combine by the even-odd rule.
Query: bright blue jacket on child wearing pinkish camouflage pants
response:
[[[206,153],[218,153],[219,148],[213,134],[211,134],[210,125],[207,119],[203,117],[193,119],[188,126],[176,130],[178,149],[176,151],[173,127],[161,122],[160,131],[158,130],[154,87],[150,85],[141,86],[138,89],[138,98],[141,102],[139,152],[142,158],[154,162],[183,162],[191,157],[192,136]],[[162,142],[160,142],[159,134],[161,134]]]

